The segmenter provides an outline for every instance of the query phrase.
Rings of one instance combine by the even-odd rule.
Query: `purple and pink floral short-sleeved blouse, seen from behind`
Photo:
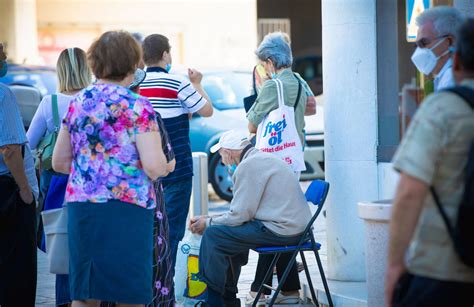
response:
[[[125,87],[93,84],[70,102],[63,120],[71,135],[73,161],[67,202],[120,200],[152,209],[152,180],[138,156],[136,135],[158,131],[147,98]]]

